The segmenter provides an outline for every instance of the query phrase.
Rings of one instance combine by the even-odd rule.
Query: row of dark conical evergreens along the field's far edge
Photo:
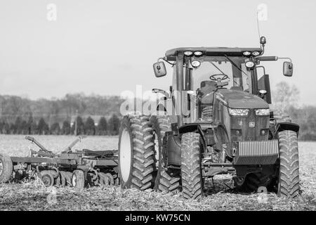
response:
[[[15,122],[12,123],[0,122],[0,134],[118,135],[119,126],[120,119],[115,114],[109,120],[106,120],[105,117],[100,117],[98,123],[92,117],[87,117],[84,121],[82,117],[77,116],[74,122],[71,123],[69,120],[65,120],[61,126],[58,122],[48,126],[43,117],[39,119],[39,122],[36,122],[30,116],[28,120],[17,117]]]

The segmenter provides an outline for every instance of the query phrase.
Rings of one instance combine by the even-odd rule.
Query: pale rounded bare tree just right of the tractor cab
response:
[[[295,85],[290,86],[287,82],[279,82],[274,93],[274,105],[279,110],[287,110],[290,105],[296,105],[299,91]]]

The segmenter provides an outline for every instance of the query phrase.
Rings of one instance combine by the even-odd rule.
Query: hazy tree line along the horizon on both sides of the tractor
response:
[[[292,122],[300,125],[300,140],[316,141],[316,106],[300,106],[298,100],[299,90],[295,85],[279,82],[272,89],[270,108],[289,114]],[[123,102],[119,96],[84,94],[67,94],[51,100],[0,96],[0,133],[117,135]],[[76,119],[74,115],[81,116]],[[103,116],[94,121],[93,115]]]

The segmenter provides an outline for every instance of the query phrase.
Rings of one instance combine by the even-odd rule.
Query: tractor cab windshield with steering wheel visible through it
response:
[[[246,70],[245,58],[226,56],[204,56],[202,58],[191,58],[191,62],[198,60],[201,65],[193,68],[192,87],[194,90],[202,89],[204,86],[213,86],[216,82],[211,81],[211,75],[225,74],[228,79],[226,89],[236,89],[249,92],[251,90],[251,72]],[[220,76],[218,76],[220,77]]]

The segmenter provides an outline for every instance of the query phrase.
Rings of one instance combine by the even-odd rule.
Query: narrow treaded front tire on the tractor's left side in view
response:
[[[203,197],[200,135],[183,134],[181,140],[181,179],[184,198]]]

